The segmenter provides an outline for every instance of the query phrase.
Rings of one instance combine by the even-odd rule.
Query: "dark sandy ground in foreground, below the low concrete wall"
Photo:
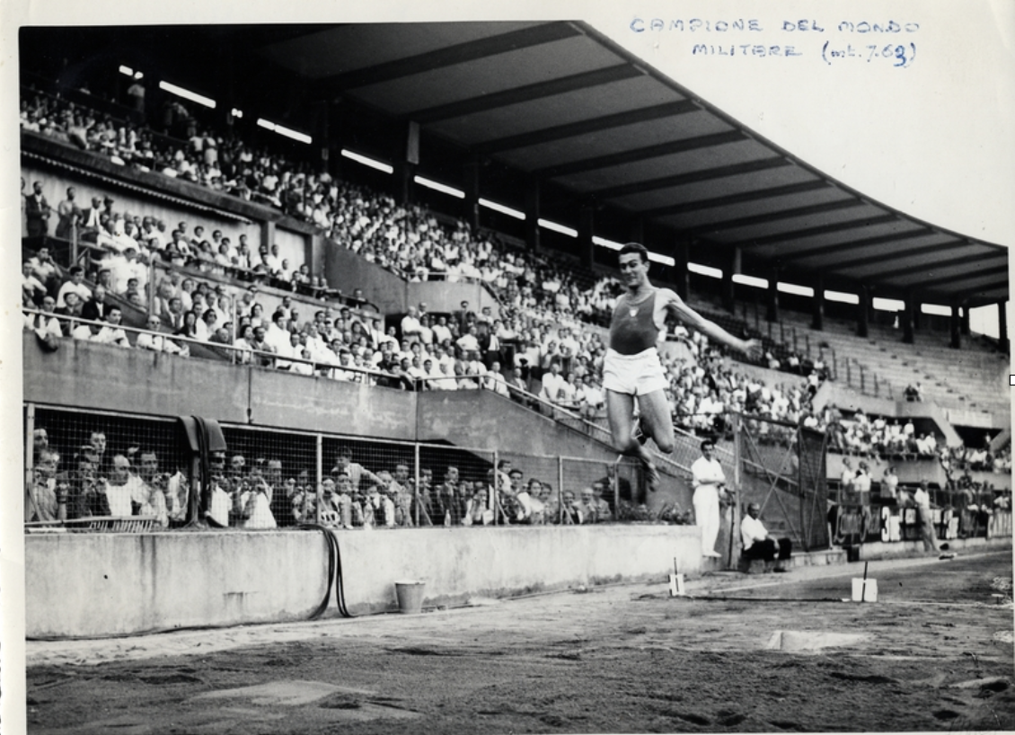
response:
[[[28,642],[32,733],[1015,730],[1012,551]],[[1000,597],[995,597],[1000,595]]]

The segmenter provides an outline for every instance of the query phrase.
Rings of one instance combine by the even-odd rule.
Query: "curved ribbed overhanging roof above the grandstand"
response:
[[[341,25],[260,52],[319,90],[696,247],[738,247],[753,263],[882,293],[1008,297],[1006,248],[865,198],[582,22]]]

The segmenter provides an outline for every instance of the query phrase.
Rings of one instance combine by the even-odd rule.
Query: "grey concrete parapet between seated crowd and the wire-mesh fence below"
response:
[[[73,339],[45,352],[31,332],[22,348],[26,402],[616,459],[607,445],[489,391],[370,388]]]

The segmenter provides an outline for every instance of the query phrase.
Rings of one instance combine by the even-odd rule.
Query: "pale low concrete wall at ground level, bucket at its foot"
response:
[[[397,609],[394,583],[425,603],[695,575],[692,526],[399,529],[336,534],[354,614]],[[547,563],[552,559],[553,563]],[[25,634],[110,636],[307,618],[327,589],[319,532],[60,534],[25,538]],[[329,615],[336,615],[331,603]]]

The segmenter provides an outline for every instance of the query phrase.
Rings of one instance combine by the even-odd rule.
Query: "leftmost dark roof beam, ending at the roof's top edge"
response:
[[[328,89],[355,89],[369,84],[393,81],[394,79],[412,76],[413,74],[435,71],[445,67],[455,66],[456,64],[478,61],[490,56],[505,54],[510,51],[528,49],[543,44],[552,44],[556,41],[563,41],[564,39],[581,35],[581,30],[567,22],[543,23],[498,36],[469,41],[457,46],[436,49],[424,54],[395,59],[394,61],[368,66],[363,69],[354,69],[321,79],[319,84]]]

